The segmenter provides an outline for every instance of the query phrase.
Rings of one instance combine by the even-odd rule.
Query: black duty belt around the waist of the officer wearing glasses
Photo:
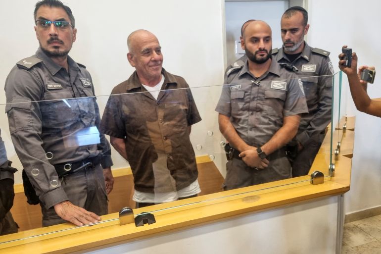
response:
[[[58,176],[64,176],[72,173],[76,173],[85,169],[94,168],[100,163],[102,155],[97,155],[95,157],[75,161],[75,162],[66,162],[53,165]]]

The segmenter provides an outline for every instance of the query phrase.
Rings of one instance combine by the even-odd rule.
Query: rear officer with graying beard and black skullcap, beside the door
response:
[[[283,47],[273,58],[292,69],[303,82],[308,113],[301,116],[295,139],[289,144],[292,176],[308,174],[331,121],[333,65],[330,52],[311,48],[304,41],[309,25],[307,11],[290,7],[281,19]]]

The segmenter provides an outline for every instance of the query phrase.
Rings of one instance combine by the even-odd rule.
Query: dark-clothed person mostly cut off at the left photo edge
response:
[[[6,157],[0,130],[0,235],[18,231],[18,226],[10,213],[14,199],[13,174],[17,171],[11,164],[12,161]]]

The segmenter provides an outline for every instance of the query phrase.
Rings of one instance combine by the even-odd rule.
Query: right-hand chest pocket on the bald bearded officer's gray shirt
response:
[[[265,91],[265,102],[263,111],[268,115],[283,116],[283,109],[286,101],[286,91]]]

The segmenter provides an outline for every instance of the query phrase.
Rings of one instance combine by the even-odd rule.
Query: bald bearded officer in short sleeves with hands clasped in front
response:
[[[307,112],[302,84],[271,57],[270,26],[250,22],[241,41],[248,59],[227,72],[220,101],[220,131],[232,147],[225,190],[291,177],[283,148]]]

